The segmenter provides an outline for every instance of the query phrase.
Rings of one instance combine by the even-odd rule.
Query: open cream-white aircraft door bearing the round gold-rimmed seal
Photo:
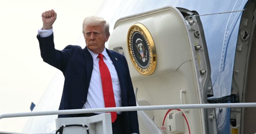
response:
[[[201,104],[212,96],[207,47],[196,12],[168,6],[121,18],[108,48],[126,57],[139,106]],[[217,133],[214,109],[138,111],[138,118],[142,134]]]

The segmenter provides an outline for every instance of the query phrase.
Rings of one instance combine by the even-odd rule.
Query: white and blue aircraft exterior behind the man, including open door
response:
[[[255,5],[253,0],[105,0],[96,15],[110,23],[108,48],[127,59],[138,106],[255,102]],[[141,47],[139,40],[147,45]],[[74,45],[85,47],[82,35]],[[63,83],[57,73],[33,111],[57,110]],[[138,117],[142,134],[152,133],[147,119],[163,134],[248,134],[256,133],[255,112],[255,107],[170,109]],[[172,116],[181,119],[174,130]],[[24,133],[55,133],[55,118],[31,117]]]

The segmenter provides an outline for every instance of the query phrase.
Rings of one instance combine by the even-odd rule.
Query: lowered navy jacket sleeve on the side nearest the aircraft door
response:
[[[125,59],[125,58],[124,58]],[[133,90],[133,84],[128,68],[128,63],[125,59],[125,66],[127,70],[127,86],[128,86],[128,92],[127,92],[127,99],[128,99],[128,107],[136,106],[136,99],[135,94]],[[130,120],[130,132],[131,133],[138,133],[139,134],[139,124],[138,124],[138,115],[137,111],[129,111],[129,120]]]

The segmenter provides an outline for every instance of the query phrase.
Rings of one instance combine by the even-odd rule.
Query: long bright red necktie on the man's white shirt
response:
[[[110,72],[107,68],[107,65],[103,61],[103,55],[99,54],[98,58],[100,58],[99,68],[101,73],[101,82],[102,82],[102,90],[103,90],[105,107],[116,107]],[[110,113],[111,113],[111,121],[115,122],[115,120],[117,119],[117,112],[110,112]]]

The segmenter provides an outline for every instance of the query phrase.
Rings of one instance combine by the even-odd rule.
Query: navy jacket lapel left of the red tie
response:
[[[93,69],[93,60],[87,47],[83,49],[83,52],[84,52],[84,58],[85,58],[85,64],[86,64],[87,89],[89,89],[89,85],[91,81],[91,73]]]

